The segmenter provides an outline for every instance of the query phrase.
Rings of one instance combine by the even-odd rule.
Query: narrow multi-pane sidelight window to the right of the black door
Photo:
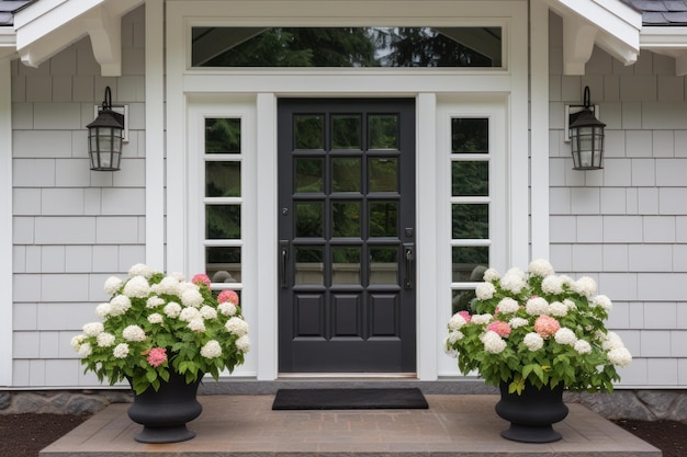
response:
[[[452,312],[469,310],[475,297],[470,283],[482,281],[489,265],[489,119],[451,118]]]

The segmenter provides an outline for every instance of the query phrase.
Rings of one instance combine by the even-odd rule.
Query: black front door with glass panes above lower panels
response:
[[[415,373],[415,101],[281,99],[280,373]]]

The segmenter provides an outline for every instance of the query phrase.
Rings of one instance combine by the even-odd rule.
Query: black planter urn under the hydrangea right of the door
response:
[[[508,384],[502,382],[500,401],[496,403],[496,413],[510,422],[510,427],[500,435],[504,438],[522,443],[551,443],[561,439],[561,434],[552,424],[567,416],[567,407],[563,403],[564,386],[537,389],[526,384],[521,395],[508,393]]]

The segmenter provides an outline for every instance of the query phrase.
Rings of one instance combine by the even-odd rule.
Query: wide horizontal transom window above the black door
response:
[[[500,27],[193,27],[193,67],[502,67]]]

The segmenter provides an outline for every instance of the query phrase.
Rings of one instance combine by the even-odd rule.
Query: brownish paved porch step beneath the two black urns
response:
[[[128,404],[111,404],[53,443],[41,457],[661,457],[661,452],[578,403],[554,429],[563,439],[523,444],[500,437],[495,395],[426,395],[428,410],[272,411],[271,395],[200,396],[195,438],[150,445]]]

